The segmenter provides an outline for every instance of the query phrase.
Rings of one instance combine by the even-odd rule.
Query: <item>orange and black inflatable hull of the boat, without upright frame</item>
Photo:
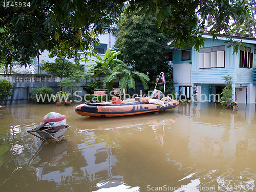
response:
[[[105,102],[109,103],[109,102]],[[84,103],[77,105],[75,111],[81,116],[90,117],[116,117],[126,115],[137,115],[143,113],[151,113],[162,110],[174,109],[179,104],[178,101],[170,100],[164,102],[163,105],[134,102],[134,103],[122,103],[122,104],[105,104],[101,103]]]

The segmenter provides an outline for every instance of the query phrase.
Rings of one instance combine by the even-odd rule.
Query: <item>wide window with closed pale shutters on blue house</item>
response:
[[[225,67],[225,46],[200,48],[199,68]]]

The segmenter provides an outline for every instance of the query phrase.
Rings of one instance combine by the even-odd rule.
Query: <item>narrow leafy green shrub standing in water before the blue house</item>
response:
[[[225,80],[226,86],[225,88],[222,90],[221,92],[221,105],[225,108],[228,108],[228,106],[230,105],[231,101],[232,101],[232,76],[226,75],[222,77],[223,80]]]

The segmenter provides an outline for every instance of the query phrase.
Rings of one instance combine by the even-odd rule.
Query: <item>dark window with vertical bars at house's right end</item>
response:
[[[251,48],[244,47],[240,48],[240,68],[252,68],[253,63],[253,53],[251,53]]]

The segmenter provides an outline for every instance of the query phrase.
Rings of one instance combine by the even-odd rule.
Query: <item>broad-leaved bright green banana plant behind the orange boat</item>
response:
[[[94,72],[95,78],[98,77],[99,74],[104,74],[105,76],[102,80],[104,89],[111,90],[113,83],[116,80],[119,80],[120,89],[126,89],[127,87],[129,87],[130,89],[134,90],[134,78],[139,77],[139,79],[143,83],[144,89],[147,90],[147,81],[149,81],[150,78],[148,78],[147,75],[144,73],[140,73],[138,71],[132,72],[132,66],[127,66],[122,60],[116,58],[119,54],[121,54],[120,51],[109,48],[106,50],[103,59],[97,54],[91,54],[91,56],[94,56],[98,60],[86,59],[86,61],[92,60],[96,62],[93,65],[88,66],[90,68],[88,70],[88,73]]]

